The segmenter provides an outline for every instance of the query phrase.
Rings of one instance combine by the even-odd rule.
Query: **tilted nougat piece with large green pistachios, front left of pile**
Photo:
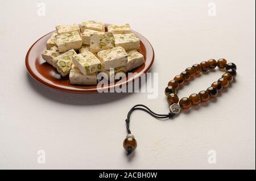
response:
[[[53,66],[57,69],[61,76],[65,77],[69,74],[72,66],[72,57],[76,56],[76,54],[77,53],[75,50],[71,49],[68,50],[68,52],[53,58]]]

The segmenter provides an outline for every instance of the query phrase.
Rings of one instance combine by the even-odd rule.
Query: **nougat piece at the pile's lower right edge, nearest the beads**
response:
[[[128,63],[125,65],[126,71],[130,71],[144,64],[143,54],[137,50],[129,50],[126,53],[128,54]]]

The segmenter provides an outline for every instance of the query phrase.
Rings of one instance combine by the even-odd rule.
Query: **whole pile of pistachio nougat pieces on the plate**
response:
[[[109,25],[96,20],[56,26],[46,42],[43,59],[72,85],[97,85],[97,74],[110,77],[144,64],[140,40],[129,24]],[[111,70],[111,71],[110,71]]]

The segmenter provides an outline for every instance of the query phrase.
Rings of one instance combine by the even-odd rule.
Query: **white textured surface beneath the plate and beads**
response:
[[[0,169],[255,169],[255,1],[0,1]],[[216,3],[216,16],[208,3]],[[49,90],[27,74],[28,48],[57,24],[85,19],[130,23],[155,49],[157,99],[146,93],[74,95]],[[237,64],[232,89],[216,102],[174,120],[136,111],[138,141],[127,158],[127,111],[138,103],[168,112],[167,82],[197,62],[225,57]],[[201,76],[179,97],[210,86]],[[157,86],[157,85],[156,85]],[[37,163],[37,151],[46,163]],[[216,150],[217,162],[208,163]]]

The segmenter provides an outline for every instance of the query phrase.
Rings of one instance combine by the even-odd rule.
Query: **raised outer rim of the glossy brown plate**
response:
[[[105,25],[109,25],[109,24],[105,24]],[[132,30],[132,31],[133,31],[133,30]],[[47,33],[47,34],[44,35],[44,36],[47,36],[47,35],[49,35],[50,33],[53,33],[53,32],[56,32],[56,30],[51,31],[51,32]],[[142,75],[143,73],[145,74],[145,73],[147,73],[147,72],[151,69],[151,67],[152,67],[152,65],[153,65],[153,63],[154,63],[154,59],[155,59],[155,52],[154,52],[154,49],[153,49],[153,47],[152,47],[150,41],[148,41],[148,40],[146,39],[146,37],[144,37],[143,35],[141,35],[141,33],[138,33],[138,32],[136,32],[136,31],[133,31],[133,32],[135,32],[135,33],[137,33],[138,35],[142,36],[142,37],[147,41],[147,43],[150,45],[150,49],[151,49],[151,51],[152,51],[152,52],[151,52],[151,53],[152,53],[152,60],[149,60],[149,61],[150,61],[150,64],[146,67],[146,69],[144,69],[143,71],[139,71],[135,76],[132,76],[130,79],[128,79],[128,78],[126,77],[126,80],[125,80],[125,81],[118,82],[118,83],[115,82],[114,84],[109,84],[109,85],[106,86],[106,87],[100,88],[103,92],[105,92],[104,90],[106,90],[106,89],[108,89],[108,90],[114,89],[115,86],[121,86],[121,85],[124,84],[124,83],[125,83],[126,85],[128,85],[129,83],[134,82],[134,81],[137,80],[139,77],[141,77],[141,75]],[[27,52],[27,54],[26,54],[25,63],[26,63],[27,71],[28,71],[28,73],[30,74],[30,76],[31,76],[32,78],[34,78],[37,82],[40,82],[40,83],[43,84],[44,86],[47,86],[47,87],[49,87],[50,89],[54,89],[54,90],[59,90],[59,91],[64,91],[64,92],[72,92],[72,93],[79,93],[79,94],[100,93],[100,92],[98,91],[98,89],[97,89],[97,85],[96,85],[96,88],[94,88],[94,89],[79,89],[79,88],[77,88],[77,89],[67,89],[67,88],[65,88],[65,87],[57,86],[55,83],[48,83],[48,82],[44,81],[43,79],[41,79],[40,77],[38,77],[38,75],[32,70],[32,68],[31,68],[31,66],[30,66],[30,63],[29,63],[29,56],[30,56],[30,52],[31,52],[32,48],[33,48],[33,47],[35,46],[35,44],[38,43],[38,41],[41,40],[44,36],[42,36],[42,37],[40,37],[38,40],[36,40],[35,43],[33,43],[33,44],[31,45],[31,47],[28,49],[28,52]],[[146,48],[146,46],[145,46],[145,48]],[[146,50],[148,50],[148,49],[146,49]],[[146,58],[147,58],[147,57],[146,57]],[[108,91],[108,92],[110,92],[110,91]]]

